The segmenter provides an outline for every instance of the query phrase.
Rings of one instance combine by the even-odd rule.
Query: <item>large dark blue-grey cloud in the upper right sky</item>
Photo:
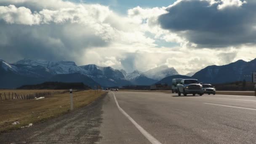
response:
[[[159,16],[163,29],[203,48],[255,44],[253,0],[180,0]]]

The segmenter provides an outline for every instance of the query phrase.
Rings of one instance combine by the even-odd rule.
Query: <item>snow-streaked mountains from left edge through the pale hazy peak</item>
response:
[[[8,64],[0,59],[0,88],[16,88],[21,85],[32,85],[45,81],[59,81],[67,83],[83,82],[94,87],[123,86],[123,85],[152,85],[159,79],[176,74],[174,68],[163,66],[148,72],[127,73],[112,67],[100,67],[95,64],[77,66],[73,61],[39,61],[23,59]],[[154,73],[155,71],[155,73]],[[153,79],[153,78],[156,79]]]

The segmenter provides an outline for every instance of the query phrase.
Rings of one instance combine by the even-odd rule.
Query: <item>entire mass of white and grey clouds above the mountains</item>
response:
[[[0,5],[0,58],[8,62],[64,59],[127,72],[166,64],[187,74],[256,56],[252,1],[177,0],[167,7],[131,8],[126,15],[64,0]]]

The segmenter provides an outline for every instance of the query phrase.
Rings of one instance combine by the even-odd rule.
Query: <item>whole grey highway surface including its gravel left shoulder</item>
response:
[[[18,142],[255,144],[256,97],[109,92],[75,112],[0,134],[1,144]]]

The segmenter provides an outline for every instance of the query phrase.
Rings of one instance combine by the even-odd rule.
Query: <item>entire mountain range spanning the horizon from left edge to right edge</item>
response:
[[[124,85],[152,85],[154,83],[171,84],[173,78],[195,78],[203,83],[229,83],[241,80],[251,81],[251,73],[256,71],[256,59],[238,60],[222,66],[208,66],[200,71],[179,75],[166,65],[146,72],[135,70],[125,72],[112,67],[100,67],[95,64],[77,66],[73,61],[35,61],[23,59],[8,64],[0,59],[0,88],[17,88],[21,85],[39,84],[46,81],[66,83],[84,83],[91,88],[94,85],[115,87]]]

